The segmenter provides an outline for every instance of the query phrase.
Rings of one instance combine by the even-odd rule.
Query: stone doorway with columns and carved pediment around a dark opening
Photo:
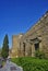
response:
[[[38,38],[29,39],[32,45],[32,57],[35,57],[35,51],[41,49],[41,40]]]

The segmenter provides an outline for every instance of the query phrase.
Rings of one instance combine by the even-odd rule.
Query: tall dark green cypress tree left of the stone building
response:
[[[2,45],[2,52],[1,56],[5,59],[9,56],[9,38],[8,35],[4,36],[3,45]]]

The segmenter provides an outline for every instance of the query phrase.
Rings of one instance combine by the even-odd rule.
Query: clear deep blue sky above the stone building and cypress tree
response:
[[[48,10],[48,0],[0,0],[0,47],[4,35],[25,33]]]

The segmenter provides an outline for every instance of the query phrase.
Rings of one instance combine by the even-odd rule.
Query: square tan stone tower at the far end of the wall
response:
[[[11,58],[17,58],[20,56],[20,39],[22,34],[12,36],[12,49],[11,49]]]

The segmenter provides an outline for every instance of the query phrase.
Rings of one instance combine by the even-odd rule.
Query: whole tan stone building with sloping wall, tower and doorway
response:
[[[24,35],[13,36],[12,39],[11,57],[35,57],[38,48],[48,56],[48,12]]]

